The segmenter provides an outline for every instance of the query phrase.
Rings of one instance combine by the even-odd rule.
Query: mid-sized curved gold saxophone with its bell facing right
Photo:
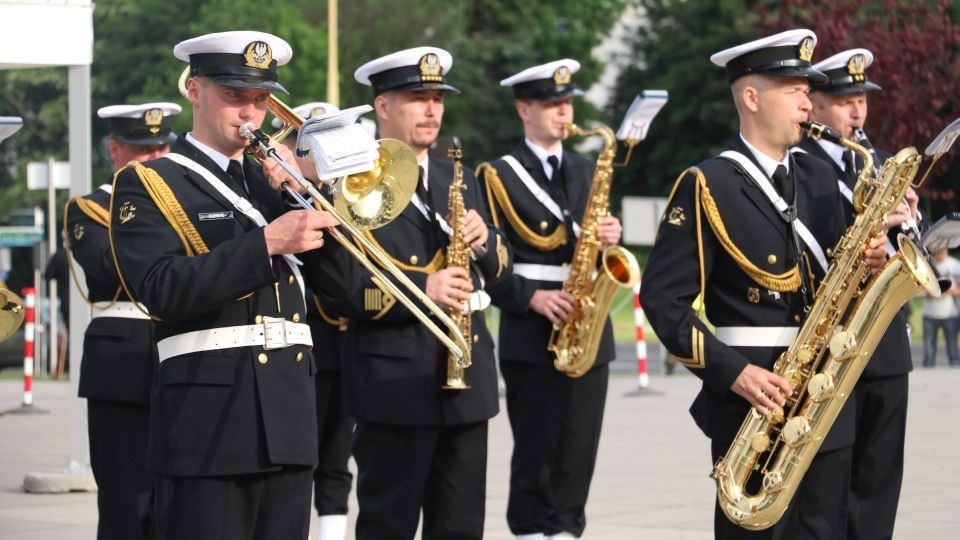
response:
[[[570,275],[563,282],[563,290],[576,298],[578,309],[567,322],[554,326],[547,343],[547,350],[556,356],[554,367],[571,378],[577,378],[593,367],[613,294],[617,287],[631,288],[637,284],[640,265],[624,247],[603,249],[603,242],[597,237],[597,221],[610,213],[613,160],[617,153],[613,130],[600,124],[589,130],[571,124],[567,130],[575,136],[603,137],[603,150],[597,157],[587,207],[581,220],[580,238],[570,263]]]

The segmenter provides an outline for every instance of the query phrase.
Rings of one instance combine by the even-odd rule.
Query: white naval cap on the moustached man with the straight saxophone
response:
[[[373,95],[387,90],[442,90],[456,92],[444,76],[453,67],[453,56],[439,47],[414,47],[370,60],[353,72],[360,84],[373,87]]]

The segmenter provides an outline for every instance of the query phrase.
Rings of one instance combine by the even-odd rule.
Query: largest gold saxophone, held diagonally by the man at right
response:
[[[751,409],[711,474],[720,508],[751,530],[766,529],[783,516],[900,307],[920,292],[940,295],[925,252],[904,235],[898,237],[899,251],[873,277],[861,260],[866,243],[886,232],[887,214],[903,200],[922,156],[905,148],[876,172],[863,146],[821,124],[804,128],[812,137],[853,150],[864,168],[855,187],[854,222],[833,249],[834,260],[797,338],[774,364],[793,395],[783,409],[766,415]],[[763,481],[756,493],[748,493],[754,472]]]

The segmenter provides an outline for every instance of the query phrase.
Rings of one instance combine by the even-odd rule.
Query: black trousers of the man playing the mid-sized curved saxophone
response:
[[[583,534],[607,399],[608,365],[579,379],[552,364],[500,362],[513,431],[507,524],[513,534]]]

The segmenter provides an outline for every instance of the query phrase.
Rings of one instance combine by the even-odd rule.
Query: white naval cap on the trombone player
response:
[[[289,93],[277,82],[277,66],[290,61],[293,49],[273,34],[252,30],[217,32],[181,41],[173,55],[190,62],[190,75],[233,88],[265,88]]]

